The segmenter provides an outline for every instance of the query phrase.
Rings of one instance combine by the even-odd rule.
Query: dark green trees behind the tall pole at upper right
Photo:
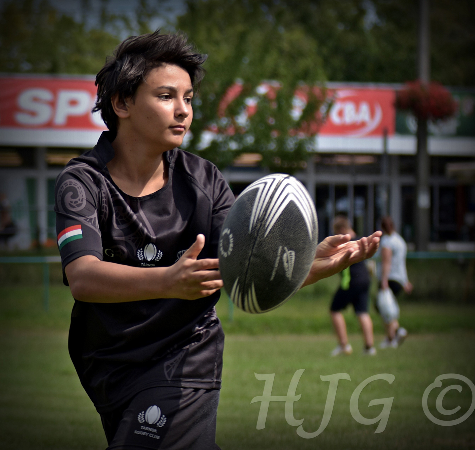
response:
[[[275,2],[266,0],[269,9]],[[283,18],[318,43],[331,81],[404,83],[417,78],[418,1],[281,0]],[[473,86],[475,3],[431,0],[432,78]]]

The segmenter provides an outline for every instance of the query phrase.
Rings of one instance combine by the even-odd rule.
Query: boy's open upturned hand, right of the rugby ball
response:
[[[355,262],[371,258],[378,249],[381,235],[381,231],[376,231],[359,240],[350,240],[349,234],[325,238],[318,244],[314,263],[302,287],[341,272]]]

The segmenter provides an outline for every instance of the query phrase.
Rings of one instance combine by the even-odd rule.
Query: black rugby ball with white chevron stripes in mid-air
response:
[[[219,270],[232,302],[254,314],[285,303],[307,278],[317,243],[314,202],[301,182],[274,173],[250,184],[219,236]]]

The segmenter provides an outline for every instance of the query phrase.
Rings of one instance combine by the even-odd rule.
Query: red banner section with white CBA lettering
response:
[[[339,88],[320,135],[348,137],[381,136],[395,132],[393,89]]]

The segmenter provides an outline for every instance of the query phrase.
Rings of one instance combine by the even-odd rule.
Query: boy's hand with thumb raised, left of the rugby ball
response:
[[[207,297],[223,287],[218,269],[219,260],[197,259],[205,245],[205,237],[199,234],[191,247],[167,270],[170,297],[196,300]]]

